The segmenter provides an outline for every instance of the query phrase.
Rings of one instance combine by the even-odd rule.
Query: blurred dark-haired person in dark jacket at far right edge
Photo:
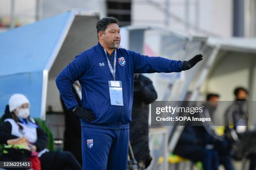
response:
[[[230,140],[230,145],[235,144],[236,147],[234,148],[238,148],[238,150],[241,150],[242,148],[243,150],[241,154],[234,154],[234,157],[240,159],[248,157],[250,159],[249,170],[255,170],[255,147],[254,145],[250,145],[250,141],[252,141],[253,138],[251,138],[250,141],[248,141],[249,139],[246,139],[250,138],[250,135],[255,134],[255,132],[248,131],[248,90],[244,87],[236,87],[234,95],[234,103],[230,105],[225,112],[225,134]],[[248,141],[248,143],[245,141]],[[234,153],[237,152],[235,151]]]

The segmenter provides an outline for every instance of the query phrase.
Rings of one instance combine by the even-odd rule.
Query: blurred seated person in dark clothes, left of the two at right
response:
[[[204,112],[197,116],[211,117],[210,115],[213,114],[218,100],[219,96],[217,94],[207,95],[208,102],[204,105]],[[218,170],[220,156],[215,148],[215,143],[220,138],[215,134],[211,124],[208,122],[202,123],[200,126],[185,126],[174,153],[193,162],[202,162],[204,170]]]

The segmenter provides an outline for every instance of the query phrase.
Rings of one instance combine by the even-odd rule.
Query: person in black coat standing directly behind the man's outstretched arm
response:
[[[148,146],[148,105],[156,98],[152,81],[144,75],[135,74],[130,142],[139,170],[147,168],[152,159]]]

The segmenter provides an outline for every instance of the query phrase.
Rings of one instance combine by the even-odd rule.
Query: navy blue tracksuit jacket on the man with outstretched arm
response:
[[[94,112],[96,120],[87,123],[81,119],[81,125],[89,128],[126,129],[131,122],[133,103],[133,74],[153,72],[181,72],[182,62],[162,57],[148,57],[123,48],[117,50],[116,80],[122,82],[123,106],[110,104],[108,81],[114,80],[108,67],[103,47],[98,43],[77,55],[56,77],[56,85],[69,110],[78,107],[72,92],[72,83],[79,80],[82,87],[82,107]],[[108,55],[112,63],[114,60]],[[118,59],[124,57],[125,65]],[[104,64],[102,64],[104,63]]]

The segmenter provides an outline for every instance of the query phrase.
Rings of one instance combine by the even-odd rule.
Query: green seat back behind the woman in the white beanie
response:
[[[53,135],[52,135],[51,130],[49,129],[49,127],[46,125],[46,122],[44,120],[39,119],[39,118],[34,118],[34,120],[40,126],[40,128],[43,129],[44,132],[48,135],[48,146],[47,146],[47,149],[49,149],[50,151],[54,151]],[[0,118],[0,125],[1,125],[1,123],[2,123],[2,119]]]

